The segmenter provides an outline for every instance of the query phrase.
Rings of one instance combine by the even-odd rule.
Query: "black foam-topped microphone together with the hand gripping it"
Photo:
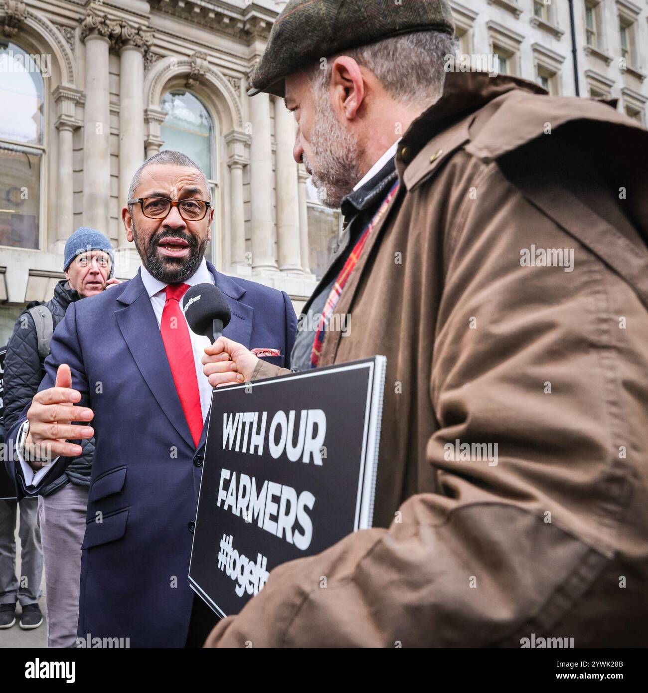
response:
[[[202,357],[202,371],[211,387],[249,380],[259,359],[243,344],[222,336],[231,320],[231,310],[222,291],[213,284],[196,284],[187,290],[182,303],[191,330],[212,342]]]

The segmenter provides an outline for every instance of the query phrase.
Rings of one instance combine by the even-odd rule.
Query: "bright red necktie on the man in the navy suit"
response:
[[[162,311],[160,332],[166,358],[168,358],[182,411],[189,423],[191,437],[196,447],[202,435],[202,408],[200,407],[200,390],[195,374],[193,347],[189,336],[189,327],[180,310],[179,301],[184,296],[188,284],[168,284],[166,303]]]

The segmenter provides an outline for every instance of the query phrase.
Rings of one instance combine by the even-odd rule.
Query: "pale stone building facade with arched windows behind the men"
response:
[[[500,71],[553,94],[618,98],[646,123],[641,2],[450,0],[462,53],[496,54]],[[299,310],[341,219],[292,159],[283,101],[246,94],[284,5],[0,0],[0,344],[27,301],[51,297],[77,227],[110,236],[118,277],[137,272],[121,208],[134,170],[161,148],[209,179],[218,269],[286,290]]]

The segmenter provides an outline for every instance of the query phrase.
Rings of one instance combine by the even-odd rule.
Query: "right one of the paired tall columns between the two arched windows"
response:
[[[128,200],[128,188],[135,171],[144,161],[144,51],[152,34],[123,23],[119,51],[119,209]],[[121,222],[119,247],[127,245]]]

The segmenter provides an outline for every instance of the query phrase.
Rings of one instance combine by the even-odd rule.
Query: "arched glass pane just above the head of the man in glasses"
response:
[[[160,108],[168,114],[160,127],[161,149],[173,149],[195,161],[213,179],[213,126],[207,109],[189,91],[169,91]]]

